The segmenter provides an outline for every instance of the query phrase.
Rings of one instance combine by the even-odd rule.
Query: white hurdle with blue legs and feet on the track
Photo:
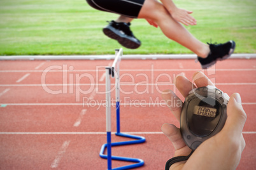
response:
[[[107,143],[103,144],[99,156],[108,160],[108,170],[112,169],[112,160],[122,160],[126,162],[135,162],[127,166],[116,167],[113,170],[133,169],[144,165],[144,160],[131,157],[120,157],[111,155],[111,147],[132,145],[137,143],[144,143],[146,139],[143,136],[136,136],[120,132],[120,83],[119,83],[119,64],[123,55],[123,49],[115,50],[115,60],[111,67],[106,67],[106,138]],[[131,138],[131,141],[120,141],[111,143],[111,77],[115,77],[115,100],[116,100],[116,114],[117,114],[117,133],[115,135],[125,138]],[[104,150],[107,148],[107,154]]]

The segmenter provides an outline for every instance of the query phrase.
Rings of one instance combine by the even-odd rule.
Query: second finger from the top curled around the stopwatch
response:
[[[180,91],[181,95],[187,97],[188,93],[196,88],[192,82],[188,81],[186,77],[183,75],[178,75],[174,82],[176,88]]]

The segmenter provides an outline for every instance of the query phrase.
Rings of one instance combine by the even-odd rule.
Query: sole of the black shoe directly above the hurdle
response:
[[[110,37],[111,39],[117,40],[119,42],[119,44],[121,44],[125,48],[136,49],[136,48],[139,48],[139,46],[141,46],[140,43],[138,44],[138,43],[132,41],[125,34],[122,36],[119,36],[118,32],[119,31],[117,29],[113,29],[112,27],[108,27],[108,26],[103,29],[103,33],[106,36]]]

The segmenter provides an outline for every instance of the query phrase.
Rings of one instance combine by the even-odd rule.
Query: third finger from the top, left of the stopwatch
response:
[[[162,92],[162,98],[166,101],[167,107],[173,112],[173,115],[176,117],[178,121],[180,121],[180,114],[183,102],[176,96],[176,94],[167,89]]]

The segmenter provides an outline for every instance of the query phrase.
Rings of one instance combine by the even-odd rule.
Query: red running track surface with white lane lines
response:
[[[1,61],[0,169],[106,169],[99,150],[106,143],[104,67],[112,62]],[[146,143],[113,147],[112,153],[145,160],[138,169],[164,169],[174,148],[160,127],[179,122],[160,104],[159,91],[176,91],[174,77],[183,72],[191,80],[201,70],[199,63],[123,60],[120,69],[121,131],[145,136]],[[256,60],[230,59],[204,73],[228,95],[240,93],[248,119],[238,169],[255,169]],[[112,94],[115,98],[115,91]],[[112,110],[115,132],[115,107]],[[113,135],[112,140],[125,139]],[[113,161],[113,167],[126,164]]]

